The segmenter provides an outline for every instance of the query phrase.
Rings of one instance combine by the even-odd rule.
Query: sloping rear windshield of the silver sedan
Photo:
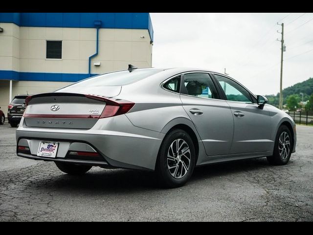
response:
[[[111,72],[97,75],[77,82],[71,87],[98,87],[98,86],[123,86],[137,82],[141,79],[154,75],[162,70],[157,69],[140,69],[130,71]]]

